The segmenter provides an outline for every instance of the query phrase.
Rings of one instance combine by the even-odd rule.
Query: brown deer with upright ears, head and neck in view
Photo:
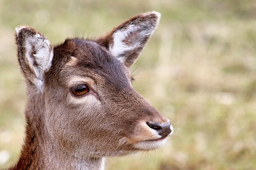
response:
[[[138,14],[103,36],[55,46],[32,27],[16,28],[26,127],[9,170],[104,170],[106,157],[166,143],[170,120],[134,90],[130,71],[160,16]]]

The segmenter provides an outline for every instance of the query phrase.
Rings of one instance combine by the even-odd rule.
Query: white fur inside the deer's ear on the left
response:
[[[27,63],[36,77],[33,83],[38,90],[42,91],[44,73],[52,65],[53,50],[50,47],[50,42],[42,35],[36,34],[26,40],[25,48]]]

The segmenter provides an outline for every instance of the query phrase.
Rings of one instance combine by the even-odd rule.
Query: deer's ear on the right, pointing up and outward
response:
[[[156,29],[160,13],[139,14],[124,21],[96,42],[109,51],[127,67],[136,62],[149,37]]]

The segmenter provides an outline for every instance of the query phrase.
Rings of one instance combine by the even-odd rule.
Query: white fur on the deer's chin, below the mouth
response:
[[[154,150],[162,147],[166,143],[167,139],[161,139],[157,141],[141,141],[134,145],[135,149],[139,150]]]

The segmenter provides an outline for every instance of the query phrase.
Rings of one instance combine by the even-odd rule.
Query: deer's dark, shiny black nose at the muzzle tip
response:
[[[158,132],[159,135],[161,135],[162,137],[167,137],[171,132],[171,128],[170,125],[171,123],[165,123],[165,124],[161,124],[161,123],[154,123],[154,122],[147,122],[147,125],[151,128],[154,129],[155,131]]]

